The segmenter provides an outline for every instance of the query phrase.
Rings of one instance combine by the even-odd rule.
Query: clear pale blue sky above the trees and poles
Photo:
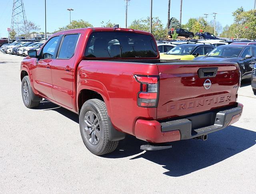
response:
[[[40,26],[44,32],[44,0],[23,0],[26,17]],[[1,0],[0,12],[0,37],[7,37],[6,28],[10,27],[12,18],[13,0]],[[73,8],[72,20],[83,19],[95,27],[100,27],[100,22],[120,24],[125,27],[125,2],[124,0],[46,0],[47,6],[47,32],[53,32],[59,27],[69,23],[67,8]],[[232,24],[232,12],[243,6],[250,10],[254,0],[183,0],[182,24],[189,18],[198,18],[203,14],[217,12],[216,20],[222,26]],[[158,16],[163,24],[167,23],[168,0],[153,0],[153,17]],[[171,0],[170,17],[180,17],[180,0]],[[134,19],[146,18],[150,15],[150,0],[130,0],[128,7],[128,25]],[[208,16],[208,21],[212,20]]]

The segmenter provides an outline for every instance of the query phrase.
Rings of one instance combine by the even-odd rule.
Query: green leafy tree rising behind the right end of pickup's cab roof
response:
[[[129,28],[143,31],[150,31],[150,17],[146,19],[139,19],[132,21]],[[161,20],[158,17],[152,18],[152,34],[156,39],[166,38],[167,36],[167,28],[163,27]]]

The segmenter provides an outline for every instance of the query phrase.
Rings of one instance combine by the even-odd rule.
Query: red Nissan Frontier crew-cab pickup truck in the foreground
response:
[[[238,64],[162,61],[148,32],[67,30],[28,55],[20,71],[25,106],[45,98],[79,114],[82,140],[96,155],[114,151],[125,134],[149,142],[144,150],[205,140],[242,114]]]

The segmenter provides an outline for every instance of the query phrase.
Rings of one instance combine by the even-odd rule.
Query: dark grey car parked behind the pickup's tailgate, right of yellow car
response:
[[[237,62],[242,72],[242,79],[250,78],[252,67],[256,59],[256,46],[229,44],[218,46],[206,56],[197,57],[197,61],[216,61],[216,62]]]

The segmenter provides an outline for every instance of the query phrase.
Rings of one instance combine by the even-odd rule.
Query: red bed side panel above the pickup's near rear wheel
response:
[[[156,64],[83,60],[78,66],[78,72],[77,96],[83,89],[98,92],[117,130],[134,134],[138,118],[156,119],[156,108],[137,106],[140,84],[134,78],[134,74],[158,76]]]

